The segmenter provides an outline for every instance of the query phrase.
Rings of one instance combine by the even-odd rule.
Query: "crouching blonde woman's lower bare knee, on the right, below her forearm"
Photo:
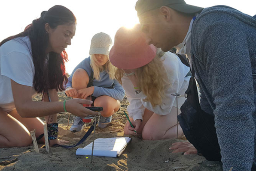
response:
[[[100,96],[94,100],[94,106],[103,107],[101,116],[110,117],[119,110],[120,102],[110,96]]]

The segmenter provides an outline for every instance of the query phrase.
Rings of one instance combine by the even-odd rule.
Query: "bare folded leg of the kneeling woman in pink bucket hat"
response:
[[[171,113],[168,115],[153,114],[147,121],[143,131],[143,139],[158,140],[171,139],[177,136],[177,108],[172,107]],[[180,109],[179,109],[180,112]],[[178,137],[183,136],[183,131],[179,126]]]

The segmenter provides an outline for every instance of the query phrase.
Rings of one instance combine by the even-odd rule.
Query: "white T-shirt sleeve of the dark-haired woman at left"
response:
[[[33,87],[34,63],[31,56],[12,52],[1,57],[1,75],[21,85]]]

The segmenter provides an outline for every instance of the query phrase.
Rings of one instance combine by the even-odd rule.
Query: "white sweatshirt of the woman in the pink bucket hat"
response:
[[[178,98],[179,109],[186,100],[184,94],[188,88],[189,79],[191,77],[186,77],[190,70],[189,67],[184,65],[179,57],[171,52],[166,52],[161,59],[163,59],[170,86],[165,90],[165,98],[162,99],[162,103],[158,106],[153,107],[149,101],[143,101],[146,95],[143,94],[143,92],[136,94],[131,80],[127,76],[122,77],[122,86],[125,89],[126,96],[130,103],[127,107],[127,111],[134,121],[137,119],[143,120],[146,108],[158,115],[168,115],[171,112],[172,106],[177,106],[176,97],[171,95],[173,93],[182,95]]]

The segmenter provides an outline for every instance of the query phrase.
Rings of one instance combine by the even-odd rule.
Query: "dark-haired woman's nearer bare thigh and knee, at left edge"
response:
[[[25,147],[32,142],[24,125],[0,109],[0,148]]]

